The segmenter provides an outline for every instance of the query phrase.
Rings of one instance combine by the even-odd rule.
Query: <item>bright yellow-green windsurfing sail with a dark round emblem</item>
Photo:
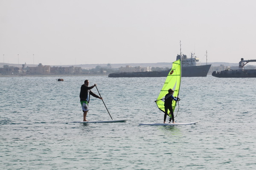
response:
[[[172,63],[172,69],[169,72],[166,81],[163,84],[163,88],[160,91],[159,96],[157,97],[157,100],[155,101],[157,103],[157,107],[164,111],[164,97],[166,94],[168,94],[168,90],[171,88],[174,91],[173,96],[179,96],[180,91],[180,80],[181,80],[181,62],[180,59]],[[176,101],[172,102],[172,110],[174,112],[176,106]],[[168,110],[168,115],[170,111]],[[169,115],[171,117],[171,114]]]

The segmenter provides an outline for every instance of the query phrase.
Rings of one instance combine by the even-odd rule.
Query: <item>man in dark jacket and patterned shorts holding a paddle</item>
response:
[[[81,105],[82,105],[82,110],[84,112],[84,122],[87,121],[86,120],[86,115],[87,115],[87,112],[89,111],[88,109],[88,104],[90,102],[90,95],[92,95],[93,97],[96,97],[96,98],[99,98],[99,99],[102,99],[102,97],[94,94],[90,89],[94,88],[96,86],[96,84],[94,84],[93,86],[88,86],[89,85],[89,80],[85,80],[84,81],[84,84],[81,85],[81,90],[80,90],[80,102],[81,102]]]

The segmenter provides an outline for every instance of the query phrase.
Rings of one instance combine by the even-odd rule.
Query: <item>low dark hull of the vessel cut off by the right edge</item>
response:
[[[213,71],[212,76],[219,78],[246,78],[256,77],[256,69],[252,70],[224,70]]]

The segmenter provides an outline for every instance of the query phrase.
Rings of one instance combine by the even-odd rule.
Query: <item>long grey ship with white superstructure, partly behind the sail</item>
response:
[[[191,53],[191,57],[186,55],[177,55],[177,59],[181,57],[181,77],[206,77],[211,65],[201,65],[199,58]],[[166,77],[170,70],[166,71],[145,71],[145,72],[123,72],[112,73],[108,77]]]

